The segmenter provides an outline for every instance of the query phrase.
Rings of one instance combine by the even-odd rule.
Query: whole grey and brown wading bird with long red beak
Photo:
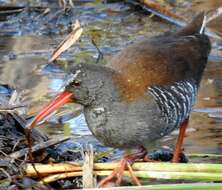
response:
[[[195,103],[211,43],[206,16],[197,14],[183,28],[134,42],[106,65],[77,64],[63,91],[27,126],[32,129],[66,103],[81,104],[92,134],[104,145],[132,150],[98,187],[120,185],[131,164],[145,159],[147,148],[179,129],[172,162],[178,162],[189,115]]]

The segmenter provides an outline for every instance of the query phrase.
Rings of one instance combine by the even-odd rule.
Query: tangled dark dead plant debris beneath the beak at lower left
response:
[[[5,100],[4,107],[6,106],[6,100],[12,100],[12,95],[13,91],[11,95],[0,94],[0,99]],[[0,104],[3,105],[3,103]],[[48,185],[40,184],[34,179],[25,177],[24,166],[28,163],[28,142],[25,127],[25,118],[18,115],[15,109],[0,111],[0,189],[26,189],[31,187],[34,189],[49,189]],[[80,151],[67,151],[60,155],[56,144],[69,140],[68,137],[49,139],[47,135],[37,129],[33,129],[31,135],[33,141],[32,154],[35,162],[60,162],[61,160],[68,160],[67,158],[72,158],[72,161],[81,159]],[[41,176],[39,177],[41,178]],[[76,180],[75,183],[70,183],[70,187],[76,188],[76,183]],[[78,184],[81,184],[81,181]],[[63,188],[62,184],[60,187]]]

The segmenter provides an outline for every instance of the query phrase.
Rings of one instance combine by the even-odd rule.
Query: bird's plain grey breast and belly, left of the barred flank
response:
[[[84,112],[91,132],[107,146],[147,146],[166,135],[166,122],[154,101],[127,106],[113,103],[112,106],[86,108]]]

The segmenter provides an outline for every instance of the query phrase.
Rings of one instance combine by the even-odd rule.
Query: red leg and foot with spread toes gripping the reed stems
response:
[[[114,181],[115,185],[119,186],[122,181],[123,172],[126,168],[128,168],[130,177],[135,182],[135,184],[138,186],[141,185],[138,178],[134,175],[130,164],[132,164],[137,159],[142,159],[146,155],[146,153],[147,153],[146,149],[140,147],[138,152],[124,156],[120,160],[118,166],[113,170],[113,172],[99,182],[98,187],[105,187],[109,182],[112,181]]]

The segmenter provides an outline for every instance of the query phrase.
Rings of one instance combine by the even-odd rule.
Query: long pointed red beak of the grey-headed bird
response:
[[[35,125],[44,119],[47,115],[54,112],[55,110],[59,109],[61,106],[65,105],[66,103],[73,102],[72,100],[72,93],[64,91],[58,96],[56,96],[49,104],[47,104],[38,115],[35,116],[33,121],[28,125],[29,129],[35,127]]]

